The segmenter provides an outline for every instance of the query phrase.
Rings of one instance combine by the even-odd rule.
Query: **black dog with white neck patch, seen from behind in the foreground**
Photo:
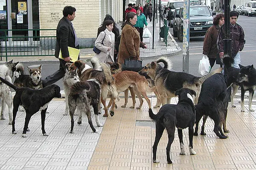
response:
[[[168,144],[166,147],[167,163],[172,164],[170,159],[171,144],[175,137],[175,126],[178,128],[180,139],[180,155],[185,155],[182,129],[189,127],[189,152],[195,155],[193,150],[193,133],[195,124],[195,105],[192,95],[196,95],[195,91],[188,88],[181,88],[175,92],[179,96],[177,105],[163,105],[159,112],[155,115],[149,109],[149,116],[156,123],[156,137],[153,145],[153,162],[159,163],[157,160],[157,145],[163,135],[163,130],[166,128],[168,133]]]

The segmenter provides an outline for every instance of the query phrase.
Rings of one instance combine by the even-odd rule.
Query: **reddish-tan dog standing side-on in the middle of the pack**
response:
[[[128,103],[128,89],[131,92],[131,97],[133,101],[133,105],[130,108],[134,108],[135,105],[135,93],[137,97],[140,99],[140,106],[137,109],[140,109],[143,104],[143,99],[141,97],[144,91],[146,92],[154,92],[157,97],[157,104],[154,108],[160,107],[161,105],[161,97],[154,86],[154,81],[149,77],[149,79],[145,79],[145,77],[140,76],[137,72],[134,71],[122,71],[122,64],[119,62],[108,62],[111,69],[111,74],[115,78],[116,89],[117,92],[123,92],[124,88],[128,86],[125,92],[125,104],[121,106],[121,108],[125,108]],[[146,82],[145,82],[146,81]],[[140,85],[140,86],[138,86]]]

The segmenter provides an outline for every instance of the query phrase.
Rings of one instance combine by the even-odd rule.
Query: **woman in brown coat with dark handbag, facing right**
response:
[[[121,40],[119,45],[119,54],[117,61],[124,63],[125,59],[140,60],[140,47],[148,48],[148,46],[140,42],[140,33],[134,27],[137,22],[137,14],[129,12],[126,15],[126,24],[122,28]]]

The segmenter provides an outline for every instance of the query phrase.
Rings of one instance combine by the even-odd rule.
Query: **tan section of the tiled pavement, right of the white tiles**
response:
[[[173,164],[166,163],[168,136],[164,132],[157,148],[157,159],[152,163],[152,146],[155,137],[154,122],[148,116],[148,105],[144,101],[141,110],[120,108],[123,99],[116,102],[118,108],[113,117],[108,117],[99,137],[88,170],[248,170],[256,169],[256,113],[240,112],[239,101],[236,108],[228,108],[228,139],[218,139],[213,132],[213,122],[206,123],[206,136],[194,136],[193,145],[197,155],[190,156],[188,130],[183,131],[186,155],[180,156],[180,144],[175,132],[171,146]],[[151,98],[152,106],[156,99]],[[177,99],[173,98],[175,104]],[[248,101],[245,101],[247,104]],[[255,103],[255,101],[253,101]],[[137,100],[136,105],[139,104]],[[248,109],[248,105],[245,105]],[[256,110],[255,105],[253,108]],[[157,113],[159,109],[153,109]],[[137,122],[137,123],[136,123]],[[200,134],[200,130],[199,130]]]

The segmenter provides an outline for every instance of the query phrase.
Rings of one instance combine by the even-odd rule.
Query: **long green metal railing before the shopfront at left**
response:
[[[53,56],[55,53],[56,29],[4,29],[0,31],[1,60],[2,57],[5,57],[7,61],[8,57]],[[13,36],[9,36],[10,33]],[[40,36],[41,33],[54,34],[54,36]]]

